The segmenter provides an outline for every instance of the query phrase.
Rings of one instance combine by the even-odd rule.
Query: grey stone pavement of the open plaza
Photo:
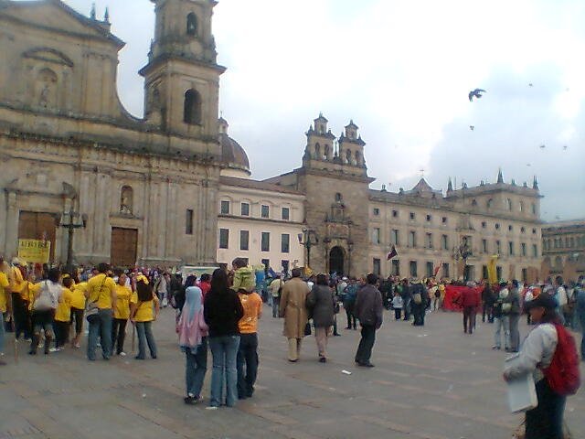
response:
[[[155,360],[133,359],[130,332],[128,357],[110,362],[90,363],[83,349],[31,358],[20,343],[15,365],[7,343],[0,438],[501,439],[521,419],[506,410],[506,354],[491,349],[493,327],[479,323],[473,336],[464,335],[460,315],[451,313],[431,314],[426,327],[386,313],[372,358],[376,368],[362,369],[353,362],[358,331],[343,329],[345,316],[339,316],[342,337],[330,338],[329,362],[317,362],[314,338],[307,337],[301,361],[293,364],[286,360],[282,320],[265,306],[254,397],[235,409],[205,410],[209,354],[206,402],[186,406],[173,315],[166,308],[155,323]],[[585,437],[584,394],[567,403],[574,437]]]

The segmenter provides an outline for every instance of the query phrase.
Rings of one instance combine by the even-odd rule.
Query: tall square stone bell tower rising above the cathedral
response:
[[[144,118],[168,134],[217,138],[219,75],[213,0],[151,0],[154,40],[144,76]]]

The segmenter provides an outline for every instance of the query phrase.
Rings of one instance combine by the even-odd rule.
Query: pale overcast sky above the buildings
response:
[[[89,15],[92,1],[66,3]],[[142,116],[154,5],[95,3],[127,43],[118,89]],[[220,0],[220,109],[254,178],[300,166],[323,112],[336,135],[359,125],[372,187],[410,188],[421,169],[473,186],[501,166],[517,184],[537,175],[543,219],[584,218],[584,22],[582,0]]]

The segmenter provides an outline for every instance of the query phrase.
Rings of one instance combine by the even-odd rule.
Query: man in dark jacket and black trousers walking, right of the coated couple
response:
[[[382,294],[376,288],[377,282],[378,276],[376,274],[367,274],[367,284],[357,292],[356,305],[354,305],[354,313],[362,327],[362,337],[356,352],[356,363],[358,366],[366,368],[374,367],[369,359],[376,341],[376,330],[382,326],[384,312]]]

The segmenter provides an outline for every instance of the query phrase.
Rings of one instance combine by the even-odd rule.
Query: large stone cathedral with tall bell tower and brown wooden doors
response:
[[[66,260],[216,261],[219,76],[212,0],[153,0],[144,119],[116,91],[122,40],[109,17],[59,0],[0,1],[0,252],[51,241]],[[83,216],[81,218],[81,216]],[[185,222],[187,224],[185,224]],[[189,233],[176,230],[187,228]],[[188,228],[191,230],[188,230]]]

